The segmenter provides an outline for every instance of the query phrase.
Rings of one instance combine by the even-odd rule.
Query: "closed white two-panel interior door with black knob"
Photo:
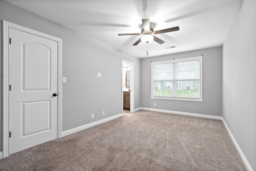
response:
[[[14,28],[10,38],[12,154],[58,138],[58,42]]]

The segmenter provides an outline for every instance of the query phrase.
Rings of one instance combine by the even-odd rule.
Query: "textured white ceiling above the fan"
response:
[[[147,58],[222,46],[241,0],[5,0],[76,30],[138,58]],[[157,34],[164,44],[140,42],[141,19],[154,30],[179,26],[180,30]],[[176,48],[166,49],[168,46]]]

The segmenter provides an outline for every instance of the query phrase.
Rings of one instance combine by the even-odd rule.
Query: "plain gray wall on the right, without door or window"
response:
[[[256,1],[241,4],[223,45],[222,116],[256,171]]]

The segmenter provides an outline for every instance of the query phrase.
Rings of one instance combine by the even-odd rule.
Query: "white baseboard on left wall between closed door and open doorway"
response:
[[[92,122],[92,123],[88,123],[86,125],[82,125],[80,127],[76,127],[76,128],[73,128],[73,129],[69,129],[67,131],[63,131],[62,132],[62,137],[66,136],[66,135],[70,135],[72,133],[76,133],[78,131],[82,131],[84,129],[87,129],[89,127],[93,127],[93,126],[96,126],[96,125],[99,125],[101,123],[104,123],[104,122],[107,122],[107,121],[111,121],[113,119],[116,119],[118,117],[122,117],[122,113],[118,114],[118,115],[114,115],[114,116],[111,116],[111,117],[107,117],[107,118],[104,118],[104,119],[101,119],[99,121],[95,121],[95,122]]]

